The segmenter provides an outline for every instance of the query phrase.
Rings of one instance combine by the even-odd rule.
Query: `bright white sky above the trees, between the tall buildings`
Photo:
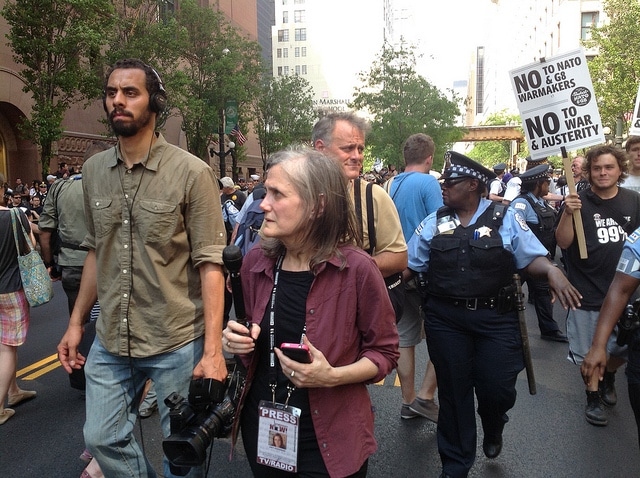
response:
[[[418,73],[443,91],[456,80],[468,79],[471,54],[495,27],[486,20],[495,10],[491,0],[404,1],[411,9],[407,28],[423,38],[422,51],[416,52],[421,53]],[[383,0],[324,0],[308,15],[331,32],[323,35],[322,63],[332,91],[339,95],[344,76],[353,84],[382,48]],[[344,91],[351,93],[352,86]]]

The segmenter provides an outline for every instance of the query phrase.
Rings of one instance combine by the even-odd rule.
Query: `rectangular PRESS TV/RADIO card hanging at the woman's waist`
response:
[[[298,470],[298,433],[301,410],[261,400],[258,407],[256,461],[289,473]]]

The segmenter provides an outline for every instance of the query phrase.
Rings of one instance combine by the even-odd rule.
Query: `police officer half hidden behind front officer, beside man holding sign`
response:
[[[538,240],[549,251],[549,256],[553,257],[556,249],[554,231],[558,213],[542,199],[549,194],[549,167],[547,164],[540,164],[528,169],[520,175],[520,180],[520,195],[510,206],[520,213]],[[536,309],[540,337],[543,340],[568,342],[567,336],[560,331],[558,323],[553,318],[553,304],[546,279],[540,280],[526,274],[523,279],[529,286],[529,295]]]

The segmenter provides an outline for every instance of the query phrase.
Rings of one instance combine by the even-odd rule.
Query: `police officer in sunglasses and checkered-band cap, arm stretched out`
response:
[[[513,274],[546,277],[553,298],[577,307],[579,292],[547,259],[547,250],[514,209],[484,199],[495,174],[454,151],[442,179],[444,207],[409,241],[409,269],[426,282],[425,328],[438,376],[441,477],[466,477],[475,461],[476,417],[483,451],[502,450],[506,415],[524,368]],[[424,278],[424,280],[422,280]]]

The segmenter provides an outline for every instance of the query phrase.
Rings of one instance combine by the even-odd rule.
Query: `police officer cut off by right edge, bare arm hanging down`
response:
[[[637,292],[638,286],[640,286],[640,228],[630,234],[624,243],[616,274],[600,309],[598,325],[593,334],[591,348],[580,366],[582,379],[587,387],[589,387],[591,381],[602,381],[604,378],[608,359],[607,344],[609,337],[618,323],[618,318],[622,315],[625,306],[634,293]],[[637,321],[637,304],[634,307],[634,314],[633,319]],[[631,328],[628,331],[628,340],[625,343],[629,346],[626,369],[629,401],[636,418],[638,443],[640,444],[640,329]]]

